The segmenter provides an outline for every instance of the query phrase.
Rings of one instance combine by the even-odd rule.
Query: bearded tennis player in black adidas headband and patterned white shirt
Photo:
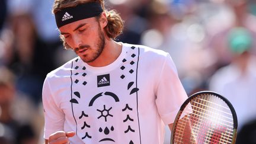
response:
[[[187,98],[169,54],[115,41],[123,21],[103,0],[55,0],[53,13],[78,57],[44,81],[45,142],[163,143]]]

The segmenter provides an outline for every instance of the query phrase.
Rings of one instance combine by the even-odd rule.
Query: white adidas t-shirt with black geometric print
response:
[[[110,65],[92,67],[79,57],[50,72],[43,86],[44,138],[74,131],[71,143],[143,143],[164,140],[187,98],[168,53],[121,43]],[[164,122],[164,123],[163,123]]]

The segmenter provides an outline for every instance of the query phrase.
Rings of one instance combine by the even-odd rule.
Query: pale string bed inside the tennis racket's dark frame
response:
[[[191,143],[231,143],[233,136],[233,119],[231,111],[215,95],[200,95],[187,105],[185,119],[180,119],[176,127],[175,143],[184,143],[183,135],[187,123],[191,123]],[[191,113],[191,112],[190,112]],[[194,138],[193,138],[194,137]],[[196,139],[196,142],[195,140]]]

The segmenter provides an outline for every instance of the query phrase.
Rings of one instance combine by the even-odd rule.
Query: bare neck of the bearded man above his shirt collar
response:
[[[106,39],[105,47],[101,55],[93,62],[87,64],[94,67],[107,66],[113,63],[121,53],[121,44],[113,39]]]

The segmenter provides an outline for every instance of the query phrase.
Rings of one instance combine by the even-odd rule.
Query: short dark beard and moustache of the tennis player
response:
[[[75,49],[75,52],[77,54],[78,50],[91,49],[92,52],[90,54],[80,56],[84,62],[89,63],[89,62],[93,62],[95,59],[97,59],[101,55],[104,47],[105,47],[105,36],[104,36],[103,31],[99,27],[98,28],[98,38],[97,38],[97,42],[96,42],[96,49],[91,49],[91,47],[89,45],[82,45],[79,48],[77,47]]]

